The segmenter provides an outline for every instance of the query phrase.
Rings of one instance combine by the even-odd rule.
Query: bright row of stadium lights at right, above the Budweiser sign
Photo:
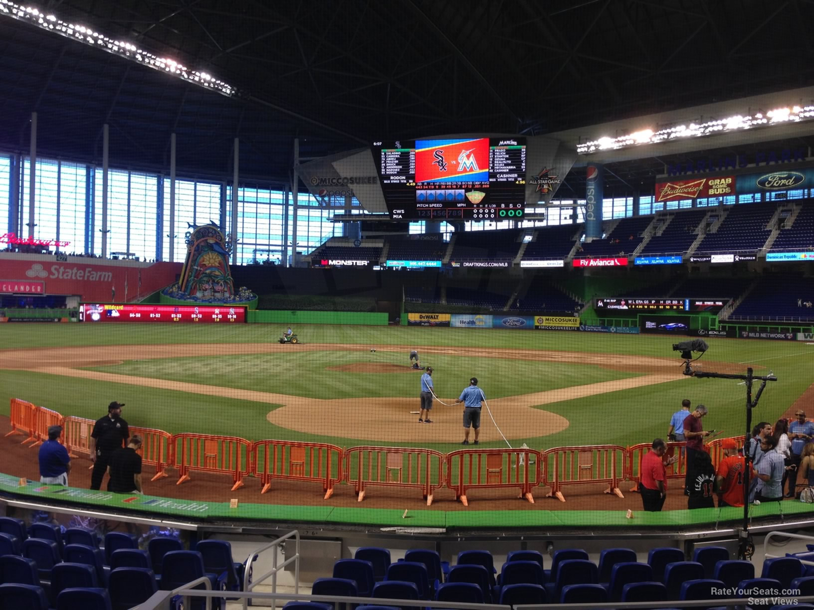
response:
[[[641,129],[619,137],[603,136],[591,142],[576,145],[578,155],[591,155],[602,150],[620,150],[629,146],[672,142],[680,138],[711,136],[718,133],[732,133],[755,127],[770,127],[777,124],[799,123],[814,118],[814,106],[793,106],[775,108],[768,112],[755,112],[752,115],[733,115],[724,119],[708,120],[703,123],[690,123],[665,127],[663,129]]]

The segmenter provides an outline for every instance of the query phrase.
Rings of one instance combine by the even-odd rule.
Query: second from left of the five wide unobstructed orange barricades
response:
[[[272,479],[322,483],[325,499],[334,494],[342,480],[344,452],[322,442],[257,441],[252,446],[252,473],[263,483],[261,494]]]

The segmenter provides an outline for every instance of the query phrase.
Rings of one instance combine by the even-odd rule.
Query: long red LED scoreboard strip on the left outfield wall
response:
[[[246,307],[230,305],[129,305],[126,303],[82,303],[83,322],[197,322],[229,324],[245,322]]]

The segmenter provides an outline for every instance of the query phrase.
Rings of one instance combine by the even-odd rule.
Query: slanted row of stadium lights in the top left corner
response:
[[[190,82],[193,85],[198,85],[199,87],[214,91],[218,94],[230,98],[242,96],[239,90],[233,85],[215,78],[208,72],[190,70],[190,68],[187,68],[174,59],[159,57],[158,55],[133,45],[129,41],[107,37],[103,35],[103,33],[94,31],[94,29],[88,28],[85,25],[63,21],[50,12],[43,13],[37,9],[37,7],[16,4],[15,2],[11,2],[11,0],[0,0],[0,15],[5,15],[18,21],[24,21],[38,28],[70,38],[73,41],[94,46],[97,49],[106,50],[108,53],[118,55],[136,63],[141,63],[147,66],[147,68],[153,68],[154,70],[176,76],[182,81]]]

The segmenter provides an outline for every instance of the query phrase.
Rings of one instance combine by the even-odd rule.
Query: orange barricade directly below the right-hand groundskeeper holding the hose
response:
[[[540,484],[540,451],[534,449],[460,449],[448,453],[446,485],[455,499],[469,506],[466,491],[484,487],[518,487],[534,503],[532,487]]]

